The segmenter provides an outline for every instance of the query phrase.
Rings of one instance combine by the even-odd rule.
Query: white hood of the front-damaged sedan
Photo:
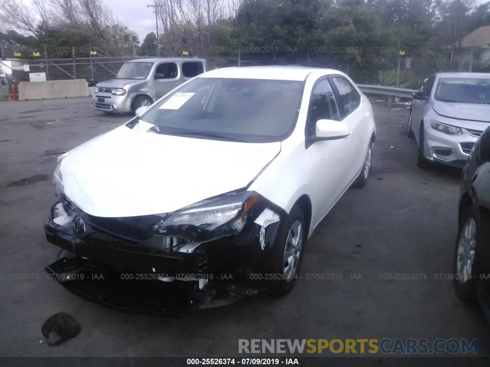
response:
[[[121,126],[61,161],[65,194],[99,217],[167,213],[245,187],[280,142],[176,137]]]

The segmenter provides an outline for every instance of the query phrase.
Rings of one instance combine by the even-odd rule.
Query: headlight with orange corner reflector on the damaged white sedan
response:
[[[159,235],[178,235],[191,242],[204,242],[239,233],[244,229],[250,210],[259,201],[253,191],[231,193],[186,206],[174,213],[162,214],[155,227]]]

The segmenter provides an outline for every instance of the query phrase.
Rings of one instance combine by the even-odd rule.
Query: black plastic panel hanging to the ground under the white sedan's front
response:
[[[133,279],[121,279],[123,273],[100,272],[76,259],[66,258],[57,260],[46,270],[71,291],[124,310],[181,315],[193,305],[189,296],[193,286],[191,282],[142,280],[135,279],[135,274],[131,275]],[[67,280],[68,275],[74,280]]]

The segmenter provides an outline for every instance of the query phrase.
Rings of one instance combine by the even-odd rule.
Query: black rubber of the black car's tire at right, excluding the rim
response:
[[[490,225],[490,221],[487,217],[484,217],[482,219],[484,219],[483,222],[486,222],[487,225]],[[468,225],[471,227],[471,221],[474,226],[474,245],[470,246],[470,248],[474,248],[472,256],[473,263],[471,264],[471,269],[468,269],[468,273],[471,275],[471,277],[469,278],[468,276],[468,279],[464,281],[464,278],[460,278],[460,274],[462,273],[462,271],[461,269],[459,269],[461,265],[460,267],[458,267],[458,255],[460,252],[462,252],[463,257],[466,256],[467,253],[470,253],[460,249],[460,241],[462,236],[464,238],[463,243],[465,241],[465,238],[467,239],[468,237],[470,237],[465,235],[465,233],[467,234],[468,232],[471,232],[471,229],[466,230]],[[458,236],[456,238],[453,256],[454,289],[456,291],[456,295],[461,300],[467,303],[477,304],[478,299],[476,287],[478,276],[480,274],[480,262],[478,253],[480,249],[482,249],[484,241],[489,239],[488,230],[485,230],[488,229],[488,227],[482,227],[482,223],[478,221],[478,216],[476,215],[476,211],[473,206],[470,206],[462,213],[458,227]],[[463,259],[461,259],[461,261],[464,262]]]

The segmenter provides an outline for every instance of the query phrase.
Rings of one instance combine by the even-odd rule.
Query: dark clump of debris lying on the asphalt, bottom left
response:
[[[80,334],[81,329],[80,324],[73,317],[60,312],[43,323],[41,332],[48,339],[48,345],[54,346],[73,339]],[[42,340],[40,343],[42,343]]]

